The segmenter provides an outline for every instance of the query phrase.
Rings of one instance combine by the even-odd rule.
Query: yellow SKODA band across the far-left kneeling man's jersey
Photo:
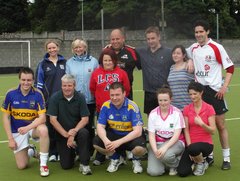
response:
[[[29,109],[12,109],[11,114],[15,120],[26,120],[33,121],[36,117],[38,117],[38,113],[36,110]]]

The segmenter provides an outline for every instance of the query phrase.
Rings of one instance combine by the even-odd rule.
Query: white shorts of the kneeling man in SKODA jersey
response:
[[[12,133],[13,138],[17,143],[17,149],[13,151],[15,154],[29,146],[29,138],[32,137],[32,134],[33,129],[31,129],[24,135],[21,135],[20,133]],[[33,140],[38,141],[38,139],[35,138]]]

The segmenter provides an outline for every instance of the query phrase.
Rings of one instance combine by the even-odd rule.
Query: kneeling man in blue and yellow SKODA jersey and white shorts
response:
[[[24,67],[19,72],[19,86],[7,92],[1,110],[8,147],[14,152],[18,169],[29,163],[29,138],[40,142],[40,175],[48,176],[49,137],[45,125],[46,108],[42,93],[32,87],[34,72]]]

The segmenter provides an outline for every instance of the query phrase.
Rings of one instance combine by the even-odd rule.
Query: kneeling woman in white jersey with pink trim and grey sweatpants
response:
[[[184,151],[182,128],[185,128],[182,112],[171,105],[172,92],[169,87],[157,91],[159,106],[148,118],[150,148],[147,173],[162,175],[169,168],[169,175],[176,175],[178,157]]]

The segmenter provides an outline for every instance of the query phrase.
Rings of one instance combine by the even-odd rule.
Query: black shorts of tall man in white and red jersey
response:
[[[213,90],[211,87],[209,86],[204,86],[205,87],[205,90],[203,92],[203,100],[212,105],[215,112],[216,112],[216,115],[221,115],[221,114],[224,114],[228,111],[228,108],[227,108],[227,104],[225,102],[224,99],[217,99],[215,97],[216,95],[216,91]]]

